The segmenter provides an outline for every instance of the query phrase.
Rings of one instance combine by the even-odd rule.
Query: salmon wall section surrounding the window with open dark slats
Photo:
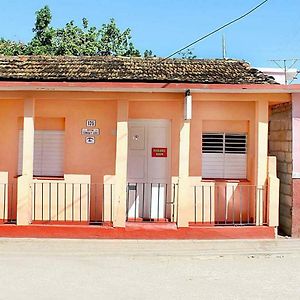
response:
[[[255,177],[255,102],[194,101],[191,121],[191,176],[201,176],[203,132],[247,133],[247,179]]]

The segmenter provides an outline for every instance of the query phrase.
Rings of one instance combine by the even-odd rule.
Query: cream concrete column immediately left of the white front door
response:
[[[113,226],[125,227],[128,157],[128,101],[118,101]]]

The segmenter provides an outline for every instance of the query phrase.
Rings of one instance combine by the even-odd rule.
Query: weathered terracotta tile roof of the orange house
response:
[[[241,60],[111,56],[0,56],[0,80],[275,83]]]

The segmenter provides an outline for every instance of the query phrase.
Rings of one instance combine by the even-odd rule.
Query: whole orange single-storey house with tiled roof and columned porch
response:
[[[0,57],[0,99],[2,236],[276,234],[290,93],[243,61]]]

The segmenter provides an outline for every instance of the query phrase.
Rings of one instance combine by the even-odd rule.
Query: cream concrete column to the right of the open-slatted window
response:
[[[256,102],[256,186],[265,187],[267,183],[268,168],[268,120],[269,104],[268,100],[258,100]],[[256,193],[256,225],[263,224],[263,200],[266,193],[258,190]]]

